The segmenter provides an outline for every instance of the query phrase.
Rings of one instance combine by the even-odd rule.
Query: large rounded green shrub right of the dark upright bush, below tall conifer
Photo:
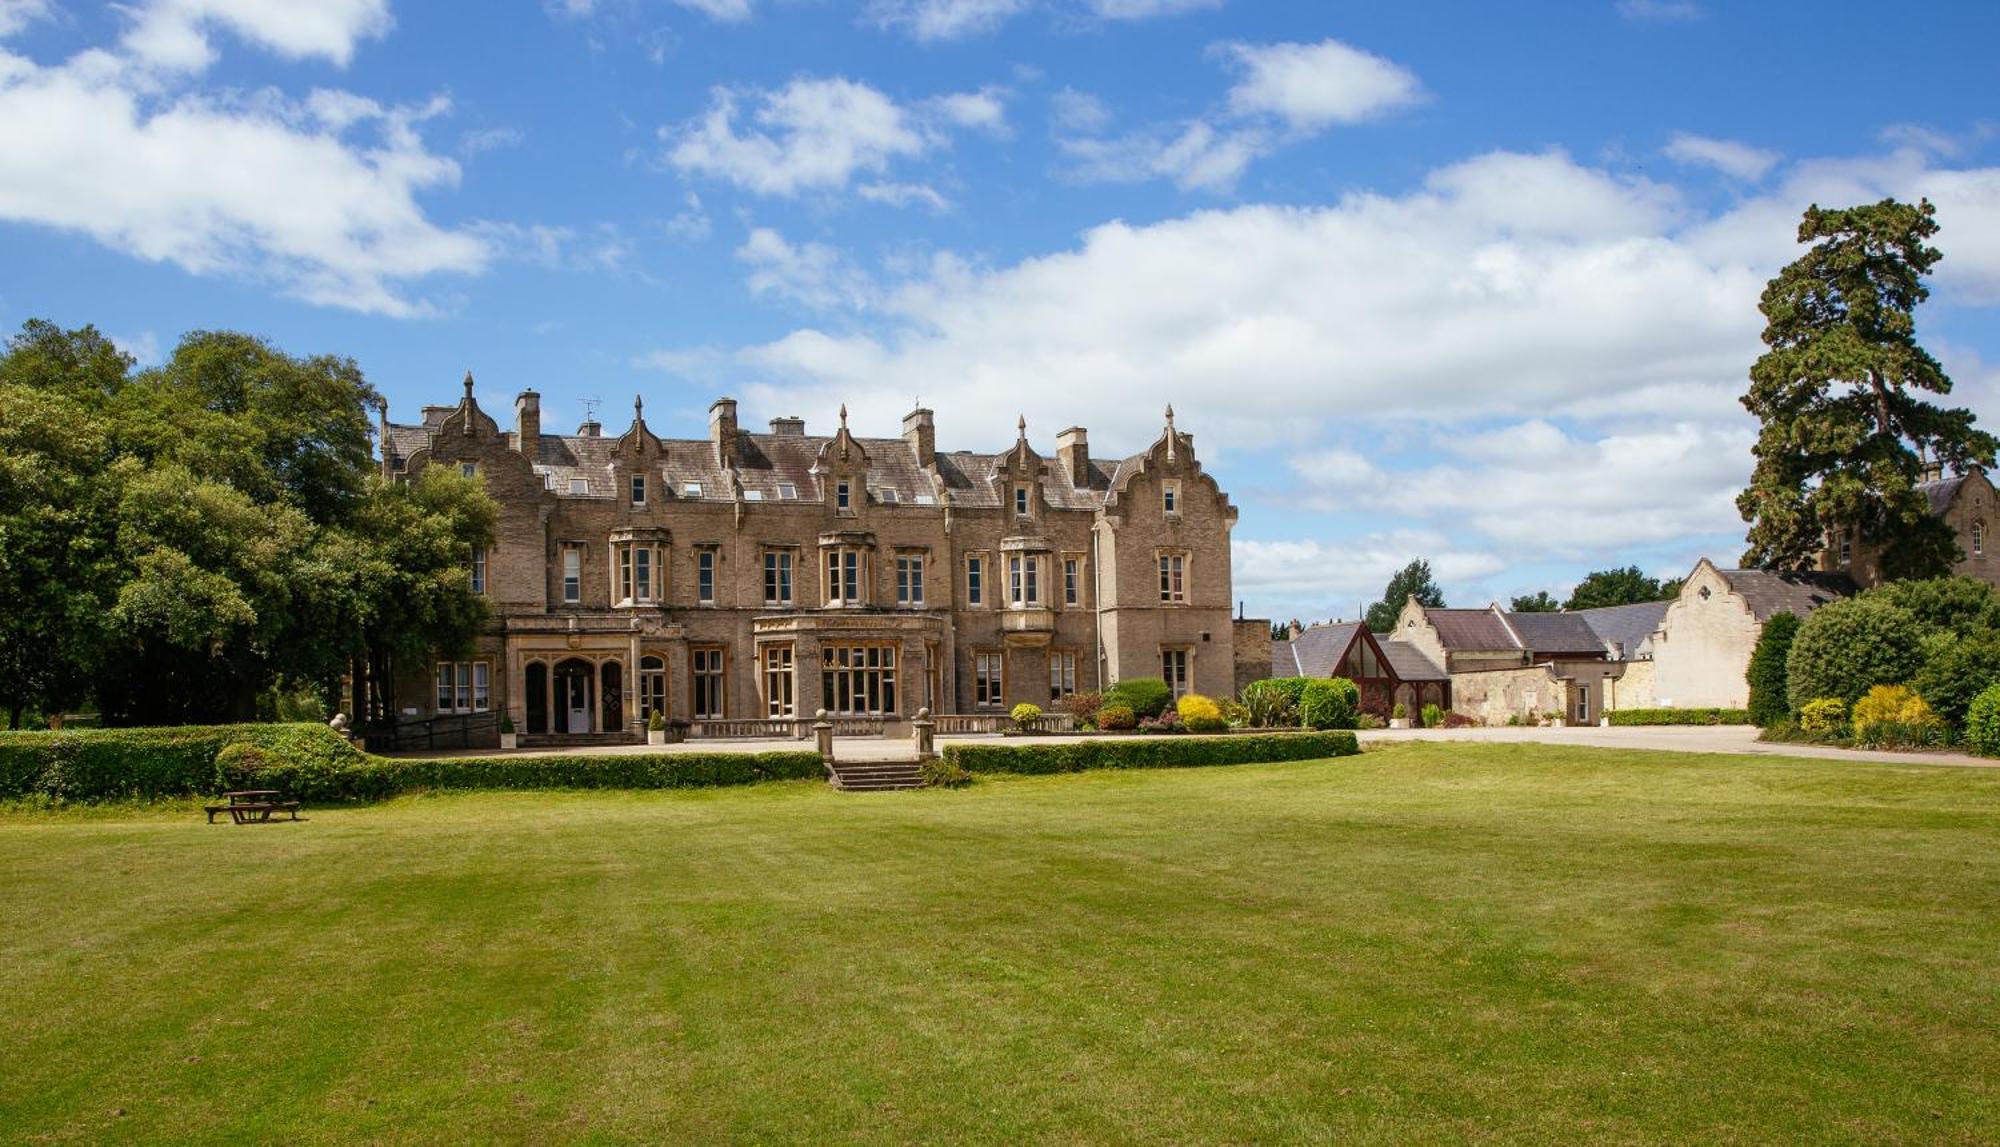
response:
[[[1886,597],[1864,593],[1816,609],[1784,659],[1792,707],[1836,697],[1852,705],[1874,685],[1902,685],[1924,663],[1924,623]]]

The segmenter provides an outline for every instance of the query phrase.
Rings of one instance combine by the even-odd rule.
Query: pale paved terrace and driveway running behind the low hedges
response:
[[[1486,741],[1486,743],[1538,743],[1538,745],[1588,745],[1598,749],[1652,749],[1664,753],[1732,753],[1744,757],[1810,757],[1828,761],[1880,761],[1896,765],[1966,765],[2000,767],[2000,761],[1972,757],[1966,753],[1892,753],[1878,749],[1836,749],[1830,745],[1782,745],[1756,739],[1750,725],[1646,725],[1646,727],[1468,727],[1468,729],[1364,729],[1362,745],[1384,741]],[[938,747],[952,743],[994,743],[1002,737],[994,733],[938,737]],[[1062,745],[1090,737],[1054,733],[1032,737],[1028,743]],[[592,745],[574,749],[446,749],[432,753],[394,753],[398,757],[568,757],[568,755],[618,755],[618,753],[782,753],[812,749],[804,739],[706,739],[680,745]],[[840,761],[902,761],[910,759],[906,737],[838,737],[834,757]]]

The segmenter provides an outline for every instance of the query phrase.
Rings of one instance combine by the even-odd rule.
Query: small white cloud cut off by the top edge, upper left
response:
[[[198,72],[216,60],[212,28],[302,60],[346,68],[356,42],[390,30],[388,0],[146,0],[128,8],[124,48],[144,64]]]

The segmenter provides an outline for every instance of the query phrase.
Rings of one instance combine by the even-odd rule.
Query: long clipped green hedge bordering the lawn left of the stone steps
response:
[[[216,765],[250,743],[260,765]],[[100,801],[280,789],[300,801],[410,789],[680,789],[822,777],[814,751],[602,753],[560,757],[374,757],[326,725],[188,725],[0,733],[0,799]]]

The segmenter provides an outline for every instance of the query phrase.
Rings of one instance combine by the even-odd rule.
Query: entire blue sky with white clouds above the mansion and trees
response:
[[[0,0],[0,326],[354,356],[392,416],[1142,448],[1252,613],[1742,544],[1756,298],[1930,196],[1920,336],[2000,396],[2000,8]]]

